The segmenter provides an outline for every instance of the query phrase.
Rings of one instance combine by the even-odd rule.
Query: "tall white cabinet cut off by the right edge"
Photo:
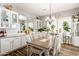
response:
[[[73,23],[73,33],[74,36],[72,36],[72,44],[79,47],[79,22]]]

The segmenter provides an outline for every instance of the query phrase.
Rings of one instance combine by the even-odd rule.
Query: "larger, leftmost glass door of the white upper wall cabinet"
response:
[[[10,27],[10,11],[7,9],[1,9],[1,19],[0,19],[0,27],[8,28]]]

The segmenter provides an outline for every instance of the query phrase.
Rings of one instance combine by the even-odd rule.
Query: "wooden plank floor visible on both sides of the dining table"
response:
[[[25,46],[21,49],[6,54],[5,56],[27,56],[27,47]],[[79,48],[63,44],[59,56],[79,56]]]

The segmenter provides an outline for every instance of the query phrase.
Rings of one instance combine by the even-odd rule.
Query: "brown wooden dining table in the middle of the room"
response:
[[[52,34],[52,35],[57,35],[57,34]],[[31,55],[31,48],[34,47],[38,50],[41,51],[47,51],[47,55],[50,55],[50,51],[53,51],[53,48],[50,49],[49,46],[50,39],[49,38],[38,38],[38,39],[33,39],[31,42],[27,42],[27,55]]]

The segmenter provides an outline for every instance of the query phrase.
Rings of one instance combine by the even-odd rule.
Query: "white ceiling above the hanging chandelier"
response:
[[[12,4],[20,12],[24,12],[35,15],[44,16],[50,13],[49,3],[14,3]],[[52,3],[51,10],[52,13],[62,12],[74,8],[78,8],[79,3]]]

